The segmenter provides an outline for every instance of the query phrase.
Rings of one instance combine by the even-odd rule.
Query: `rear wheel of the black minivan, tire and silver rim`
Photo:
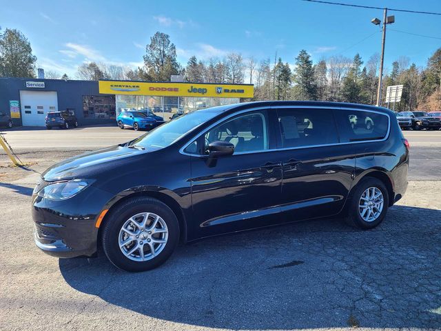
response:
[[[362,179],[349,202],[347,223],[361,229],[372,229],[382,222],[389,206],[387,188],[373,177]]]

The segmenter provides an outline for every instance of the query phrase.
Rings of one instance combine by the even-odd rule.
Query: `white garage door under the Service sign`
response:
[[[58,110],[57,92],[20,91],[23,126],[45,126],[48,112]]]

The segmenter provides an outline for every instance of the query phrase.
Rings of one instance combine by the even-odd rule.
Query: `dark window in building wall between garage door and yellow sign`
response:
[[[88,119],[116,119],[114,95],[83,95],[83,116]]]

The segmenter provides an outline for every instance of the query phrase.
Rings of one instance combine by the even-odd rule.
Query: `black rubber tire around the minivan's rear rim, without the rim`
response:
[[[365,221],[360,215],[360,199],[363,192],[365,192],[365,190],[368,188],[378,188],[383,196],[382,211],[380,212],[380,215],[373,221]],[[348,202],[349,204],[346,222],[353,227],[360,228],[362,230],[369,230],[379,225],[386,216],[387,209],[389,208],[389,194],[386,186],[382,181],[380,181],[380,179],[366,177],[362,179],[355,188],[353,188],[353,192],[351,192],[351,199]]]

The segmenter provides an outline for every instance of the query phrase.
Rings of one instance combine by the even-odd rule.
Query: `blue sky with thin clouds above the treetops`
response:
[[[441,0],[341,2],[441,12]],[[382,19],[382,10],[300,0],[0,0],[0,8],[1,28],[21,30],[30,40],[39,66],[71,77],[84,61],[141,66],[145,45],[156,31],[170,34],[178,61],[184,65],[193,54],[208,59],[232,51],[258,60],[274,59],[277,51],[283,61],[294,63],[301,49],[314,61],[334,54],[353,57],[360,52],[366,62],[371,54],[380,52],[381,43],[380,28],[370,21]],[[389,14],[396,16],[396,23],[388,28],[441,38],[441,16]],[[424,66],[440,47],[440,39],[388,30],[384,66],[390,68],[400,55]]]

